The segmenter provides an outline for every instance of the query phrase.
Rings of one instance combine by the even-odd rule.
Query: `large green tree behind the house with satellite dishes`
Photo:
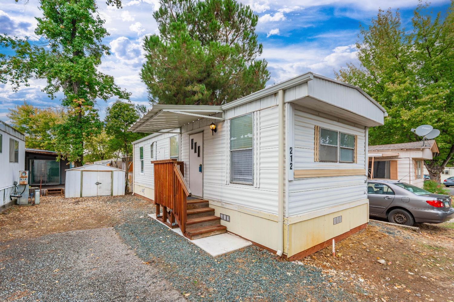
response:
[[[439,154],[425,161],[430,178],[438,182],[454,154],[453,8],[451,2],[443,17],[424,13],[428,5],[419,5],[411,30],[402,27],[399,12],[380,10],[369,28],[360,30],[360,66],[347,64],[336,75],[388,111],[385,125],[369,129],[371,145],[420,140],[410,129],[422,124],[441,131]]]

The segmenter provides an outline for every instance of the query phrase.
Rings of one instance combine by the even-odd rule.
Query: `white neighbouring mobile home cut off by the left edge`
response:
[[[10,194],[24,169],[25,135],[0,120],[0,211],[14,204]]]

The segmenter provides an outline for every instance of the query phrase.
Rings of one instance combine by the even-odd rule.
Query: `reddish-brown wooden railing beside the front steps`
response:
[[[187,197],[191,196],[184,180],[184,163],[176,159],[152,161],[154,167],[154,202],[156,218],[169,227],[181,228],[186,232]],[[163,215],[160,207],[163,207]],[[168,211],[169,210],[169,211]],[[175,224],[175,221],[177,224]]]

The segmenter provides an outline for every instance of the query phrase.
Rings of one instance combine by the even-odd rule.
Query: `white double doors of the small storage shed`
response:
[[[83,171],[82,197],[112,194],[112,171]]]

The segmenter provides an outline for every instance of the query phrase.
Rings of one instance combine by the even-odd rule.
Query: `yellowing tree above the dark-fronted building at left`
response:
[[[24,102],[15,105],[7,114],[12,125],[25,134],[25,147],[54,151],[55,127],[66,120],[62,109],[40,109]]]

